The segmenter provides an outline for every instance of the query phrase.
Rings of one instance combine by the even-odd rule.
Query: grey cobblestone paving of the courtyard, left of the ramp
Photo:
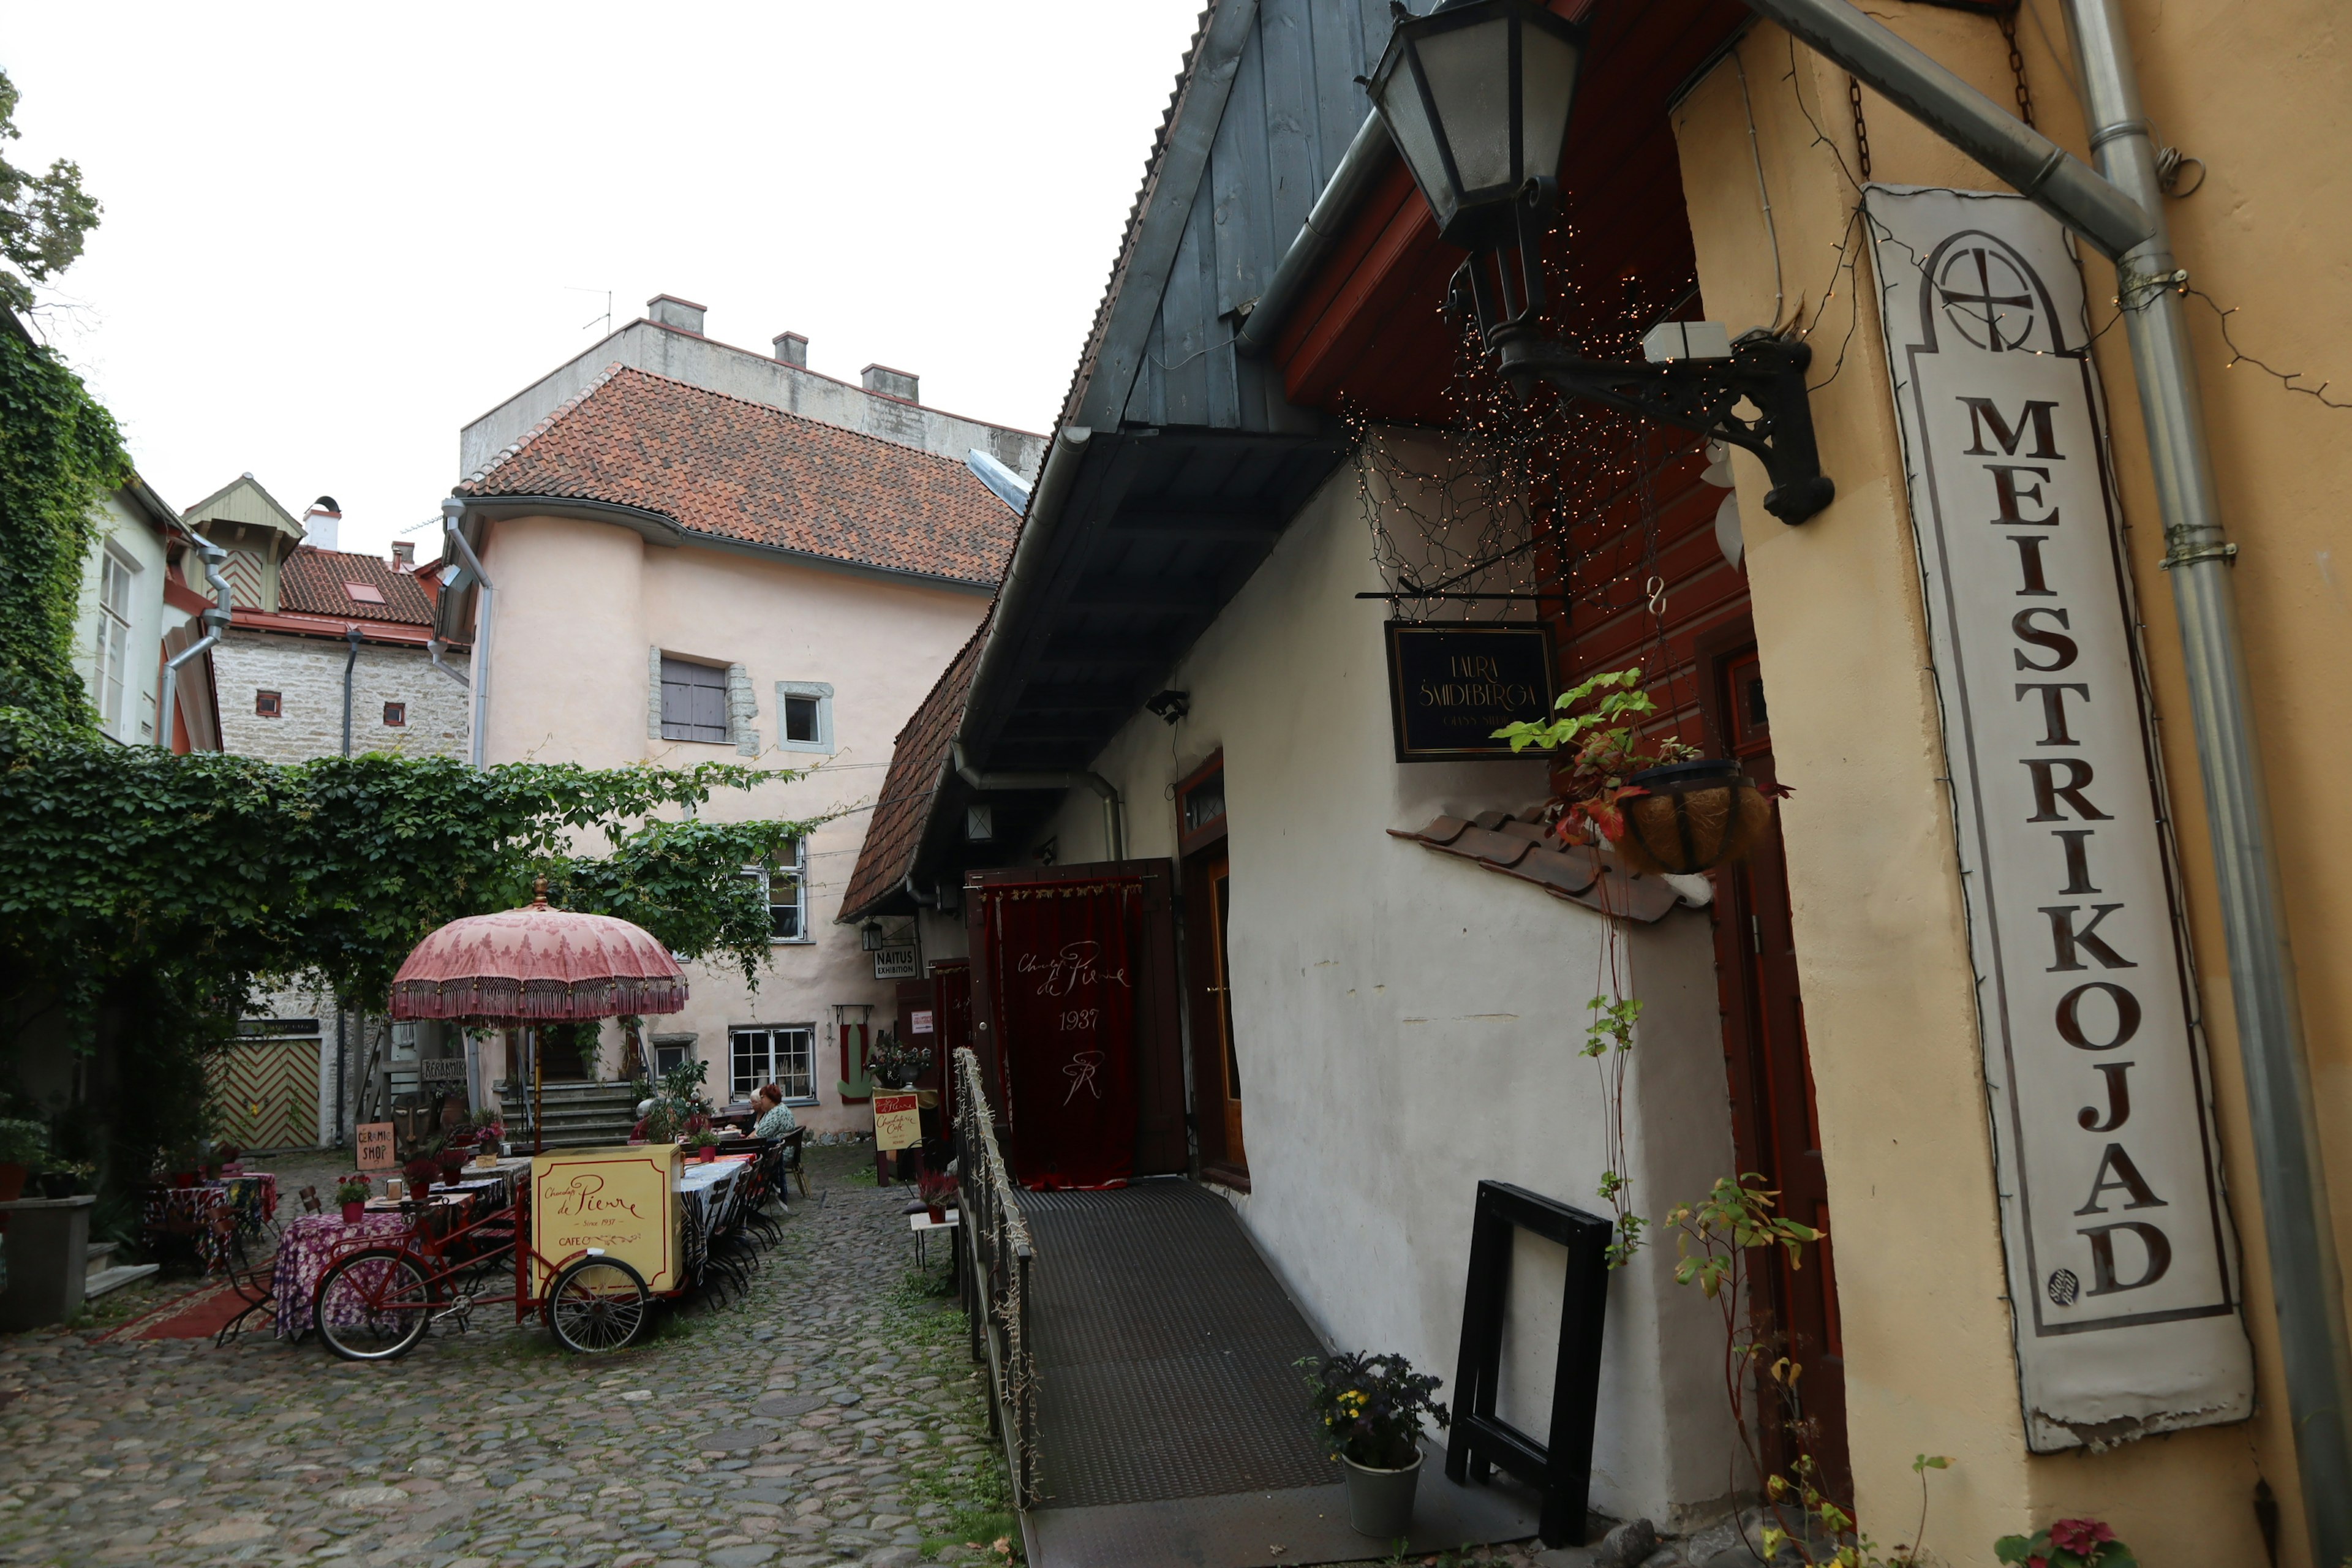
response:
[[[750,1295],[619,1356],[536,1324],[386,1366],[266,1333],[0,1335],[0,1563],[1004,1561],[962,1319],[910,1288],[906,1199],[858,1159],[811,1150]]]

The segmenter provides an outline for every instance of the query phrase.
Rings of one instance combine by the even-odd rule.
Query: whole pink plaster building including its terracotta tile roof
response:
[[[475,762],[811,769],[708,806],[840,816],[788,863],[755,870],[774,910],[757,990],[694,966],[694,1001],[649,1020],[649,1044],[661,1065],[706,1060],[713,1098],[774,1079],[811,1131],[861,1131],[858,1053],[894,992],[861,931],[835,917],[891,736],[981,623],[1018,527],[1007,496],[1035,473],[1042,442],[938,416],[901,371],[797,397],[821,416],[788,411],[793,397],[746,397],[769,381],[793,390],[823,378],[781,353],[713,343],[699,308],[691,322],[633,329],[691,339],[668,369],[703,386],[619,357],[595,374],[567,367],[560,378],[576,390],[466,475],[447,508],[454,569],[437,632],[473,642]],[[779,376],[762,381],[734,357]],[[515,402],[543,402],[546,388]],[[887,402],[887,418],[866,400]],[[482,428],[520,428],[515,407],[475,421],[468,451]],[[971,456],[938,451],[964,430],[988,433]],[[917,940],[903,924],[884,933],[891,945]],[[485,1079],[496,1067],[485,1063]],[[628,1072],[607,1027],[586,1074]],[[548,1126],[553,1138],[553,1110]]]

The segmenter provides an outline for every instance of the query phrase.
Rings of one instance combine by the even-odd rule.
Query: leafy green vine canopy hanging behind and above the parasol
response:
[[[527,903],[534,877],[555,905],[633,919],[757,980],[769,907],[741,870],[809,823],[691,811],[783,778],[381,752],[280,766],[0,715],[0,1051],[80,1053],[75,1121],[103,1126],[89,1152],[139,1180],[200,1131],[202,1058],[256,985],[308,976],[381,1009],[416,940]]]

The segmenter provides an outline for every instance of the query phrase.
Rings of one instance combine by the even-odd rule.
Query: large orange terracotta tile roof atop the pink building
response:
[[[612,364],[461,496],[567,496],[689,534],[995,585],[1018,517],[953,458]]]

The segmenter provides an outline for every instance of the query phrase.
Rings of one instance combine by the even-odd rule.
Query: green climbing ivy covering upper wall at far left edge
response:
[[[122,433],[80,376],[0,322],[0,708],[89,729],[73,621],[96,505],[129,473]]]

